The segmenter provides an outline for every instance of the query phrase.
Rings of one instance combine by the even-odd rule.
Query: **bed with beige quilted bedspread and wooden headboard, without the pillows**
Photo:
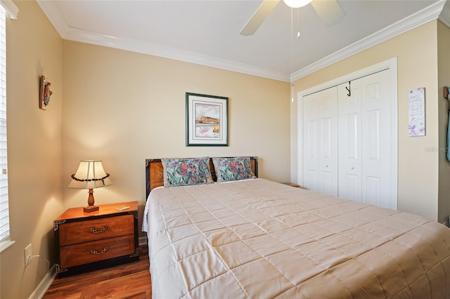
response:
[[[450,298],[444,225],[262,178],[162,187],[161,164],[146,168],[153,298]]]

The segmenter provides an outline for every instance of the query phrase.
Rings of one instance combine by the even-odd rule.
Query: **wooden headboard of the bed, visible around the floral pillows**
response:
[[[253,173],[258,176],[258,157],[250,157],[250,166]],[[210,158],[210,171],[212,180],[217,181],[216,173],[214,172],[214,164]],[[150,191],[156,187],[164,186],[164,175],[161,159],[146,159],[146,198]]]

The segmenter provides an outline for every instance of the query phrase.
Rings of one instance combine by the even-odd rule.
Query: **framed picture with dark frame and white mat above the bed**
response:
[[[186,146],[228,146],[228,98],[186,93]]]

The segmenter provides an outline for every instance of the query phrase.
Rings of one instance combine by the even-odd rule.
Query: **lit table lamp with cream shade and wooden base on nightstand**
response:
[[[79,161],[77,172],[72,174],[72,181],[69,188],[89,189],[87,199],[88,206],[84,207],[84,212],[91,213],[98,211],[98,206],[94,206],[95,188],[113,185],[109,178],[110,174],[105,173],[101,160],[82,160]]]

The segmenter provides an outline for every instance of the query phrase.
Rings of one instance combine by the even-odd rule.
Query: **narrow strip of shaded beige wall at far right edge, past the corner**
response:
[[[437,22],[438,109],[439,109],[439,221],[450,216],[450,162],[446,159],[449,100],[444,98],[444,86],[450,86],[450,28]]]

